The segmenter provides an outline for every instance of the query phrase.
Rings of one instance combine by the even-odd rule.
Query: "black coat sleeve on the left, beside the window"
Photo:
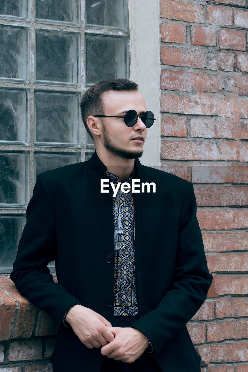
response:
[[[10,278],[20,294],[45,310],[60,328],[66,310],[80,301],[54,282],[47,264],[56,257],[53,201],[44,176],[39,174]]]

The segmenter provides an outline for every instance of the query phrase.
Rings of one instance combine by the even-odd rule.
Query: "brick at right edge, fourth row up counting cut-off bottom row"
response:
[[[215,301],[216,318],[247,317],[248,297],[220,298]]]

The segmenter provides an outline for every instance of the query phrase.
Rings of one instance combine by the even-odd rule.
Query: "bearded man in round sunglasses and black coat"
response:
[[[100,81],[80,107],[96,152],[38,176],[11,278],[58,325],[54,372],[199,372],[185,324],[212,276],[193,186],[137,159],[154,116],[135,83]]]

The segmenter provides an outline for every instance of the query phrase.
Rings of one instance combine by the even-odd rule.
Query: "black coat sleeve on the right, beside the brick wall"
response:
[[[182,208],[177,257],[171,286],[155,310],[136,321],[132,327],[151,340],[155,354],[193,317],[206,299],[212,282],[200,227],[196,201],[190,184]],[[156,288],[154,289],[156,291]]]

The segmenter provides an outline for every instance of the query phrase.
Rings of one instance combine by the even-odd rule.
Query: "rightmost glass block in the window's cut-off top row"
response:
[[[86,0],[86,26],[127,30],[127,0]]]

